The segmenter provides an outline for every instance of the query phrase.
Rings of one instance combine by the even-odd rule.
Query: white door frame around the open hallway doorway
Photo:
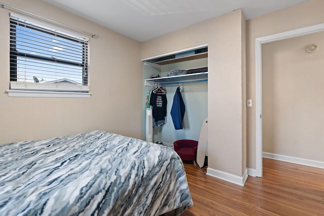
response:
[[[324,23],[271,34],[255,39],[255,117],[256,117],[256,176],[262,177],[262,44],[324,30]]]

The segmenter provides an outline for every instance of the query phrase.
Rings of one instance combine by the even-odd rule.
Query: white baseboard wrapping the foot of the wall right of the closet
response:
[[[208,167],[206,175],[215,177],[217,179],[221,179],[230,183],[234,183],[236,185],[244,186],[245,182],[248,178],[248,170],[246,169],[243,176],[235,176],[233,174],[230,174],[228,172],[220,171],[217,169],[213,169]]]

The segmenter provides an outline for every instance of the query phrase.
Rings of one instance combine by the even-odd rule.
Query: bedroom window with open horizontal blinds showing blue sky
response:
[[[22,97],[52,97],[53,93],[61,95],[57,97],[90,97],[88,41],[11,13],[9,96],[18,92],[27,93]]]

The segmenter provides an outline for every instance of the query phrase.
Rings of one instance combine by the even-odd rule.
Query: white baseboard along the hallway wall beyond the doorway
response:
[[[312,166],[312,167],[324,169],[323,161],[309,160],[309,159],[304,159],[304,158],[299,158],[299,157],[291,157],[291,156],[273,154],[273,153],[268,153],[268,152],[262,152],[262,156],[266,157],[266,158],[271,158],[274,160],[281,160],[281,161],[285,161],[285,162],[297,163],[297,164],[301,164],[301,165],[305,165],[305,166]]]

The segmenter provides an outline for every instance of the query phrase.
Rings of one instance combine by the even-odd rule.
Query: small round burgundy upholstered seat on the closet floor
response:
[[[174,150],[182,160],[191,160],[196,165],[198,141],[195,140],[177,140],[173,143]]]

